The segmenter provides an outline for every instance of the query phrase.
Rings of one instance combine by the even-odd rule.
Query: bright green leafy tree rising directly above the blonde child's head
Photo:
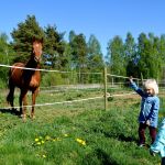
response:
[[[139,72],[145,78],[161,78],[162,57],[160,55],[160,38],[154,34],[141,34],[139,37]]]

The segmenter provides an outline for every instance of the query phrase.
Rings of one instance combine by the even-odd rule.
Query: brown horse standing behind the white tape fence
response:
[[[33,50],[30,59],[26,64],[23,63],[15,63],[13,67],[10,69],[9,74],[9,94],[7,97],[7,101],[11,105],[12,110],[14,110],[13,99],[14,99],[14,88],[20,88],[20,114],[25,121],[26,118],[26,94],[29,90],[32,91],[32,111],[31,118],[34,118],[34,106],[35,106],[35,98],[38,92],[40,81],[41,81],[41,74],[37,68],[40,68],[40,61],[42,55],[43,48],[43,40],[33,40],[32,43]],[[19,68],[21,67],[21,68]],[[25,68],[34,68],[34,69],[23,69]],[[22,108],[23,102],[23,108]]]

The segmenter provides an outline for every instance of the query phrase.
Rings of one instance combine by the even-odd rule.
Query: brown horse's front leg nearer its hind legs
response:
[[[23,121],[25,121],[26,119],[26,106],[28,106],[26,94],[28,90],[21,90],[21,95],[20,95],[20,113],[22,116]],[[23,108],[22,108],[22,102],[23,102]]]

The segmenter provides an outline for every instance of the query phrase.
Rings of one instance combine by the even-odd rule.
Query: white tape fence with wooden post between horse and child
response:
[[[13,66],[9,66],[9,65],[2,65],[0,64],[1,67],[8,67],[11,68]],[[18,67],[20,69],[32,69],[32,70],[36,70],[33,68],[24,68],[24,67]],[[61,73],[61,74],[70,74],[69,72],[59,72],[59,70],[47,70],[47,69],[37,69],[41,72],[46,72],[46,73]],[[82,73],[84,74],[84,73]],[[121,81],[114,81],[114,79],[128,79],[129,77],[124,77],[124,76],[119,76],[119,75],[111,75],[107,73],[107,68],[105,68],[105,70],[102,73],[86,73],[84,75],[101,75],[101,77],[103,77],[102,81],[100,84],[82,84],[82,85],[63,85],[63,86],[58,86],[58,89],[61,88],[61,90],[67,90],[67,89],[86,89],[86,88],[102,88],[103,92],[101,96],[96,96],[96,97],[90,97],[90,98],[86,98],[86,99],[75,99],[75,100],[65,100],[65,101],[57,101],[57,102],[46,102],[46,103],[36,103],[35,107],[43,107],[43,106],[51,106],[51,105],[63,105],[63,103],[72,103],[72,102],[80,102],[80,101],[87,101],[87,100],[96,100],[96,99],[102,99],[105,100],[105,110],[107,110],[107,105],[108,105],[108,98],[110,97],[122,97],[124,95],[132,95],[134,92],[130,92],[130,94],[114,94],[111,95],[110,92],[108,92],[108,88],[122,88],[123,86],[127,85],[125,81],[121,82]],[[110,78],[109,78],[110,77]],[[141,79],[134,78],[135,80],[140,81]],[[47,90],[47,87],[41,87],[41,92],[51,92],[51,91],[55,91],[53,89]],[[54,86],[54,88],[56,88],[56,86]],[[44,89],[44,90],[43,90]],[[46,90],[45,90],[46,89]],[[28,106],[31,107],[31,106]],[[1,108],[1,109],[9,109],[10,107],[6,107],[6,108]],[[15,107],[19,108],[19,107]]]

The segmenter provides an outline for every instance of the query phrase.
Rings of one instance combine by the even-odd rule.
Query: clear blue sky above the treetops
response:
[[[82,33],[88,42],[94,34],[107,55],[107,45],[116,35],[130,32],[136,40],[140,33],[165,34],[165,0],[2,0],[0,33],[10,33],[35,15],[40,26],[55,25],[68,40],[72,30]]]

